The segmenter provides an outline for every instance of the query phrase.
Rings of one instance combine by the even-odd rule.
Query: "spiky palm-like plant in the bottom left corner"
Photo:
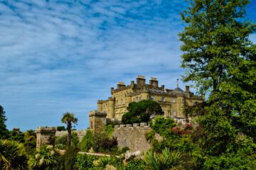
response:
[[[21,143],[0,140],[0,169],[27,169],[27,158]]]

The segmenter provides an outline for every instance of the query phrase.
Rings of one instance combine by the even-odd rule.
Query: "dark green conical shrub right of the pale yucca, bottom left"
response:
[[[75,162],[78,155],[78,148],[68,147],[65,154],[60,157],[60,162],[58,164],[59,170],[75,170]]]

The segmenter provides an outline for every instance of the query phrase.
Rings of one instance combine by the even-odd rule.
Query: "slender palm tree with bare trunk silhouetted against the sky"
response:
[[[78,118],[75,118],[75,115],[73,113],[64,113],[63,118],[61,118],[62,123],[67,124],[67,130],[68,130],[68,147],[71,145],[71,128],[72,128],[72,123],[75,123],[77,125],[78,123]]]

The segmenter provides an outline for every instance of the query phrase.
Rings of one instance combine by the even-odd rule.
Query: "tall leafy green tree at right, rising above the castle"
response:
[[[248,0],[193,0],[182,19],[184,81],[193,81],[208,99],[196,106],[207,135],[202,148],[211,155],[234,149],[238,134],[255,140],[256,46],[249,35],[255,24],[245,20]]]

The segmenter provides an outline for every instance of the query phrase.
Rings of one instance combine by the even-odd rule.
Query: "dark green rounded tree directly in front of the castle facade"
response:
[[[129,103],[128,112],[122,115],[122,123],[147,123],[152,115],[163,115],[161,106],[156,101],[143,100]]]

